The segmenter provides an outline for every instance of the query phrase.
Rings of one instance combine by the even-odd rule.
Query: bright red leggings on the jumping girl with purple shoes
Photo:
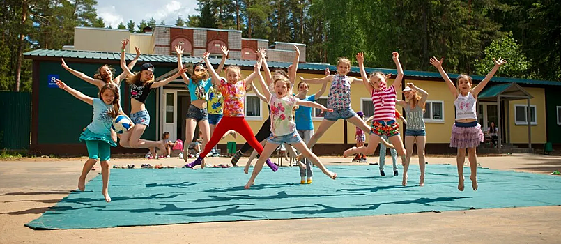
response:
[[[220,138],[222,138],[228,130],[235,130],[240,133],[247,143],[255,148],[257,153],[261,154],[263,151],[263,146],[261,146],[261,144],[257,142],[257,139],[255,139],[252,128],[249,128],[249,124],[245,121],[245,117],[222,117],[214,129],[213,136],[210,137],[210,141],[205,145],[204,151],[201,155],[199,155],[199,157],[206,157],[206,155],[210,153],[210,150],[218,144]]]

